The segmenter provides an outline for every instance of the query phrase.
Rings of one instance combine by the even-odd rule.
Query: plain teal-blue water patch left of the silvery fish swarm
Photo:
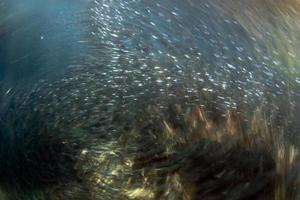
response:
[[[0,80],[5,88],[61,73],[84,51],[85,1],[2,1]]]

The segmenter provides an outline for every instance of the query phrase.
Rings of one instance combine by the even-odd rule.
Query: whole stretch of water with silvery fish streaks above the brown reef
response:
[[[262,11],[241,14],[230,1],[2,0],[0,181],[16,187],[12,199],[31,198],[18,197],[24,185],[68,179],[76,159],[64,152],[93,149],[95,138],[108,143],[138,126],[149,105],[161,113],[181,104],[242,116],[260,109],[298,145],[299,13],[288,3],[237,6]],[[53,150],[43,134],[78,147]],[[28,173],[34,169],[36,176]]]

